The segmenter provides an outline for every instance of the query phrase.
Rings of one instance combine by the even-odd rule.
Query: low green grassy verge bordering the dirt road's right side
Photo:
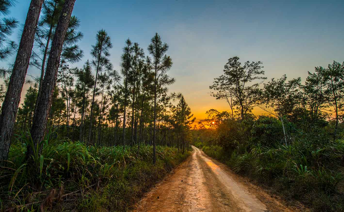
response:
[[[304,155],[302,145],[253,146],[249,152],[196,144],[203,151],[256,185],[291,204],[298,200],[312,211],[344,211],[344,142],[338,140]]]

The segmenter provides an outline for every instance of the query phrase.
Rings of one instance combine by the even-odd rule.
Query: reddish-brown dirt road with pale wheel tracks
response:
[[[148,192],[137,205],[136,212],[291,211],[200,149],[192,148],[192,156]]]

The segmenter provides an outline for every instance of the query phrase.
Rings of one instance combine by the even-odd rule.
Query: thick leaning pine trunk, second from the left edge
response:
[[[39,96],[33,116],[31,136],[35,146],[37,146],[44,138],[44,132],[49,117],[53,92],[56,84],[58,66],[60,65],[62,46],[67,32],[68,23],[71,19],[74,3],[75,0],[65,1],[53,38],[46,67],[46,73],[42,82],[42,92]],[[27,155],[31,154],[33,154],[33,149],[28,148]]]

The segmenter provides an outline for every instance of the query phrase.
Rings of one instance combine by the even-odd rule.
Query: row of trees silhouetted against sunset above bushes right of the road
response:
[[[300,77],[288,80],[286,75],[264,83],[267,78],[262,68],[260,61],[241,64],[238,57],[229,58],[223,74],[209,88],[213,97],[228,103],[230,111],[209,110],[208,122],[219,114],[225,119],[251,119],[252,109],[259,107],[281,121],[285,144],[285,120],[302,125],[304,130],[334,123],[332,137],[339,138],[338,123],[344,118],[344,62],[315,67],[304,83]]]

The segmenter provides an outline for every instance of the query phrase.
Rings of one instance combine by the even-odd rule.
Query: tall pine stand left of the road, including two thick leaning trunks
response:
[[[8,2],[7,7],[1,7],[7,11],[2,14],[13,5]],[[8,69],[10,77],[6,77],[8,71],[2,71],[5,83],[0,90],[0,160],[7,159],[15,135],[31,137],[28,159],[40,152],[42,141],[49,142],[53,136],[95,146],[140,148],[140,144],[150,144],[154,164],[156,145],[187,151],[189,125],[195,118],[181,93],[169,93],[168,86],[175,82],[168,75],[173,64],[167,55],[169,45],[155,33],[145,53],[128,38],[120,70],[115,70],[109,59],[111,37],[101,29],[90,58],[83,67],[72,68],[71,64],[85,56],[78,45],[83,33],[78,31],[80,20],[72,15],[74,3],[30,3],[20,43],[8,53],[17,52],[13,67]],[[10,29],[17,26],[18,22],[13,21],[7,23]],[[10,46],[15,47],[15,43]],[[41,74],[25,81],[29,66]],[[19,105],[24,83],[30,87]],[[174,105],[174,101],[178,104]]]

